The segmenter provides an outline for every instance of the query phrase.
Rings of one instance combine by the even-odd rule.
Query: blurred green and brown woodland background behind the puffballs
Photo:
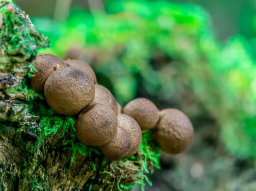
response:
[[[50,39],[42,52],[87,61],[122,105],[190,117],[191,147],[162,153],[145,190],[256,190],[255,1],[15,2]]]

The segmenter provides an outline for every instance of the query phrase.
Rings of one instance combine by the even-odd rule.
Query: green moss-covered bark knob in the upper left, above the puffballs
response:
[[[49,41],[35,30],[29,17],[18,8],[14,13],[6,10],[12,1],[0,4],[3,24],[0,31],[0,71],[10,72],[19,69],[24,63],[32,61],[42,47],[49,46]],[[29,64],[26,67],[30,68]]]

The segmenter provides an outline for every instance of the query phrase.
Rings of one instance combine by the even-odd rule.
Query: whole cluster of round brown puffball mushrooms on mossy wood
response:
[[[132,156],[141,143],[141,132],[153,129],[153,138],[167,153],[184,151],[192,140],[193,127],[177,109],[158,111],[146,98],[137,98],[122,109],[109,89],[96,82],[83,61],[38,54],[31,88],[42,93],[48,105],[62,115],[76,115],[77,138],[96,146],[110,160]]]

